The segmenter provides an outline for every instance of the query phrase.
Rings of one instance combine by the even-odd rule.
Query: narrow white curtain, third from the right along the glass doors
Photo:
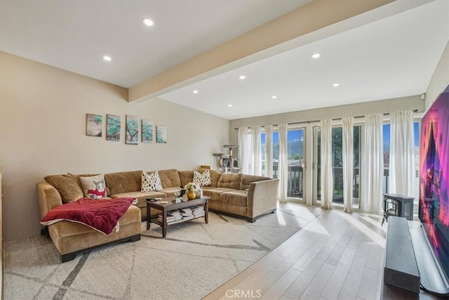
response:
[[[354,175],[354,118],[343,123],[343,204],[344,211],[352,212],[352,181]]]

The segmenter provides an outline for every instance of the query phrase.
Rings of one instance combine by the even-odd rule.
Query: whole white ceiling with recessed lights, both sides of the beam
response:
[[[0,0],[0,49],[128,88],[308,2]],[[448,40],[449,1],[431,1],[159,98],[239,119],[420,95]]]

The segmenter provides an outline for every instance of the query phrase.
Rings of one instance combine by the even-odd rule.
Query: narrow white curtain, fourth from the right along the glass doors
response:
[[[332,209],[332,120],[321,120],[321,208]]]

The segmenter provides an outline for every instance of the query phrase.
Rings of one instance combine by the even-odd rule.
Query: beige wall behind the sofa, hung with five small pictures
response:
[[[0,173],[4,239],[39,235],[36,183],[48,174],[215,165],[229,121],[164,100],[128,103],[128,90],[0,52]],[[86,136],[86,113],[103,115],[102,138]],[[121,141],[105,139],[121,115]],[[125,116],[166,125],[168,143],[126,145]]]

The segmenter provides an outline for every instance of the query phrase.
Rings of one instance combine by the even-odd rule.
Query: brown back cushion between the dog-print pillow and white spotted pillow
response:
[[[139,191],[142,184],[142,171],[105,174],[105,181],[111,195]]]

